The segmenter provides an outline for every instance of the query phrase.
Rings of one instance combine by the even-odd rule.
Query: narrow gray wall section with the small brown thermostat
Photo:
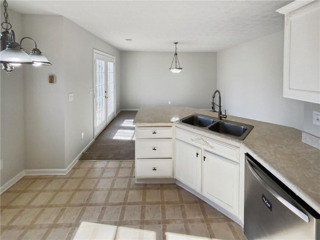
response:
[[[31,36],[52,63],[24,67],[26,169],[64,168],[62,30],[62,16],[23,15],[23,35]],[[32,49],[32,41],[24,40],[23,47]],[[56,76],[54,84],[49,74]]]

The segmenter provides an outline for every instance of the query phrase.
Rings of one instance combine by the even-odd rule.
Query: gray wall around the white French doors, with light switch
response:
[[[120,98],[120,51],[66,18],[63,18],[63,26],[63,64],[67,66],[63,67],[67,166],[93,139],[93,95],[89,91],[93,87],[93,48],[115,56],[116,102]],[[71,102],[67,101],[69,92],[74,93]],[[119,109],[116,106],[116,112]],[[83,140],[81,132],[84,133]]]

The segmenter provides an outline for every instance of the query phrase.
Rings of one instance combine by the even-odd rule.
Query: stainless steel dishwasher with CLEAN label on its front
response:
[[[248,239],[320,239],[320,214],[247,153],[244,234]]]

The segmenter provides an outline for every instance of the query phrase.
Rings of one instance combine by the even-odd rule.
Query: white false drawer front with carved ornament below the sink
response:
[[[175,127],[175,138],[214,152],[228,159],[239,161],[239,147],[198,135]]]

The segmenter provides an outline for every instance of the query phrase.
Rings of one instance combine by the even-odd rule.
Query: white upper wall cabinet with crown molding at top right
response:
[[[320,103],[319,1],[297,0],[284,14],[283,96]]]

